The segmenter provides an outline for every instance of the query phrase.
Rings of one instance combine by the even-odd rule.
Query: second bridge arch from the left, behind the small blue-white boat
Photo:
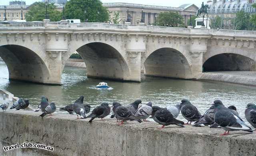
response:
[[[86,64],[88,77],[112,80],[128,79],[130,72],[124,54],[120,53],[121,49],[118,51],[114,45],[98,41],[75,47],[74,50],[81,55]]]

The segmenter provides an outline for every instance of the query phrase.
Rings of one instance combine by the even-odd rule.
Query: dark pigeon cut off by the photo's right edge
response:
[[[246,120],[252,125],[252,127],[256,128],[256,105],[248,103],[244,114]]]

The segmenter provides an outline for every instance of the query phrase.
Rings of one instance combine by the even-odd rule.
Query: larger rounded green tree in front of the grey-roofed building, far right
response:
[[[250,30],[250,14],[248,12],[236,12],[235,18],[232,19],[234,30]]]

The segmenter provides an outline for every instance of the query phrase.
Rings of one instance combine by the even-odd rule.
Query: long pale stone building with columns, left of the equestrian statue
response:
[[[119,24],[124,24],[127,18],[130,20],[132,25],[137,25],[140,23],[141,18],[146,25],[151,25],[156,22],[156,18],[160,12],[178,12],[183,16],[184,23],[186,25],[190,18],[190,13],[196,15],[198,7],[194,4],[184,4],[178,8],[167,7],[167,6],[150,6],[142,4],[130,4],[130,3],[104,3],[109,12],[110,20],[113,23],[113,18],[115,13],[120,14]],[[143,8],[143,15],[142,15]],[[128,13],[128,16],[127,16]]]

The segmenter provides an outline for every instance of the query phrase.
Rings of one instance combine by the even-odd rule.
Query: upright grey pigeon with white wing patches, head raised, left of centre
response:
[[[86,118],[85,115],[85,108],[84,108],[84,96],[80,96],[72,105],[72,109],[74,110],[74,112],[77,115],[77,119],[78,116],[81,117],[82,119]]]

